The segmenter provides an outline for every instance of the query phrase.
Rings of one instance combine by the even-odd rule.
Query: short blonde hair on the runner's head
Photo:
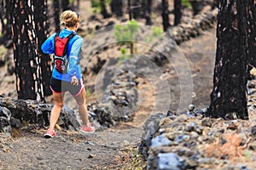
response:
[[[79,21],[79,14],[72,10],[66,10],[61,14],[61,25],[74,27]]]

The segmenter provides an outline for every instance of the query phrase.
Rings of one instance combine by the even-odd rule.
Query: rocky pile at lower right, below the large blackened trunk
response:
[[[210,118],[207,109],[196,107],[150,116],[139,150],[148,169],[255,169],[253,94],[247,99],[249,121]]]

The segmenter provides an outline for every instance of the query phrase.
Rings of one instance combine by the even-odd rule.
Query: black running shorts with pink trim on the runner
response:
[[[61,80],[55,79],[54,77],[51,77],[49,81],[49,88],[55,94],[69,92],[75,97],[82,92],[82,89],[84,88],[84,83],[83,83],[83,79],[81,79],[79,81],[79,85],[77,86],[77,85],[73,85],[71,82],[61,81]]]

